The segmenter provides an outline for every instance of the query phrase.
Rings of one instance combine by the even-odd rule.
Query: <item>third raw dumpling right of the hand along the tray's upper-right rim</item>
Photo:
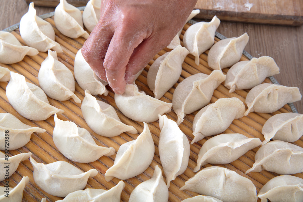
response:
[[[226,38],[215,43],[208,52],[209,67],[221,70],[235,65],[240,60],[248,39],[245,33],[238,38]]]

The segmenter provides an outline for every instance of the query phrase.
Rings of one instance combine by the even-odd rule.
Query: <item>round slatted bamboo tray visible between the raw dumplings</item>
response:
[[[56,28],[55,23],[53,20],[53,13],[50,13],[49,15],[43,15],[45,20],[50,22],[55,30],[55,40],[62,46],[63,53],[58,54],[58,59],[63,64],[65,64],[74,74],[74,59],[77,51],[82,47],[83,43],[85,42],[84,38],[77,38],[72,39],[68,38],[64,35],[62,35]],[[42,16],[42,17],[43,17]],[[194,21],[190,21],[191,23],[194,23]],[[185,30],[190,26],[190,24],[186,24],[183,28],[182,34],[180,36],[181,40],[183,39],[183,34]],[[13,35],[15,35],[18,40],[25,45],[24,41],[22,40],[20,34],[18,25],[15,27],[11,27],[10,30]],[[220,34],[216,34],[215,42],[219,41],[220,38],[224,38]],[[181,41],[181,44],[183,45],[183,42]],[[136,84],[138,85],[138,88],[141,91],[144,91],[147,95],[150,95],[153,97],[152,91],[147,86],[147,72],[151,64],[157,59],[159,56],[163,55],[167,51],[170,51],[170,49],[164,48],[161,50],[155,57],[148,63],[147,67],[144,69],[142,74],[138,77],[136,80]],[[185,58],[184,63],[182,64],[182,73],[181,77],[178,80],[178,83],[183,81],[185,78],[187,78],[190,75],[194,75],[196,73],[204,73],[204,74],[210,74],[212,69],[208,67],[207,63],[207,54],[208,51],[203,53],[200,56],[200,64],[197,66],[194,62],[194,57],[192,55],[188,55]],[[246,55],[246,56],[245,56]],[[249,54],[242,55],[241,61],[243,60],[249,60],[252,57]],[[38,71],[41,66],[42,61],[47,57],[46,52],[39,52],[36,56],[25,56],[25,58],[18,63],[12,64],[12,65],[4,65],[0,64],[3,67],[8,68],[10,71],[17,72],[21,75],[24,75],[27,82],[31,82],[39,86],[38,83]],[[228,68],[223,69],[224,74],[228,71]],[[274,82],[275,79],[271,78]],[[269,78],[266,78],[265,83],[271,83],[271,80]],[[171,102],[173,92],[178,85],[176,83],[173,88],[171,88],[168,92],[165,93],[165,95],[160,99],[165,102]],[[68,160],[66,157],[64,157],[56,148],[53,140],[52,140],[52,132],[53,128],[55,126],[54,123],[54,116],[52,115],[45,121],[30,121],[26,118],[23,118],[20,114],[18,114],[12,106],[9,104],[8,99],[5,94],[5,88],[7,86],[8,82],[0,82],[0,112],[4,113],[11,113],[15,115],[19,120],[21,120],[23,123],[28,124],[33,127],[41,127],[46,130],[45,133],[33,133],[31,136],[31,141],[26,144],[24,147],[21,147],[17,150],[10,151],[10,155],[16,155],[19,153],[24,152],[32,152],[32,157],[38,162],[38,163],[52,163],[55,161],[66,161],[82,171],[88,171],[89,169],[95,168],[99,171],[98,175],[95,177],[90,177],[88,179],[88,183],[86,188],[100,188],[100,189],[110,189],[118,182],[120,181],[117,178],[114,178],[112,181],[106,182],[104,178],[105,171],[111,167],[115,160],[115,155],[112,156],[103,156],[97,161],[94,161],[92,163],[76,163],[73,161]],[[79,87],[77,82],[75,82],[75,94],[83,101],[83,98],[85,96],[84,91]],[[214,103],[219,98],[230,98],[230,97],[237,97],[239,98],[243,103],[245,103],[245,97],[249,90],[236,90],[233,93],[229,93],[228,89],[225,88],[223,85],[224,83],[220,84],[220,86],[214,91],[214,94],[211,98],[210,103]],[[125,117],[117,108],[115,101],[114,101],[114,93],[110,87],[107,86],[107,89],[109,91],[108,96],[98,95],[95,96],[98,100],[105,101],[108,104],[111,104],[115,110],[118,113],[118,117],[121,119],[122,122],[128,125],[134,126],[138,130],[138,134],[141,134],[143,131],[143,123],[132,121],[131,119]],[[121,144],[124,144],[128,141],[132,141],[138,137],[138,134],[130,134],[130,133],[122,133],[119,136],[116,137],[102,137],[98,134],[95,134],[85,123],[85,120],[83,119],[82,112],[81,112],[81,104],[75,103],[72,100],[68,101],[57,101],[51,98],[48,98],[50,104],[55,106],[56,108],[63,109],[65,112],[63,114],[58,115],[59,119],[62,119],[64,121],[73,121],[75,122],[78,127],[83,127],[87,129],[93,136],[96,143],[100,146],[105,147],[114,147],[116,151],[118,151]],[[245,105],[246,106],[246,105]],[[247,109],[247,106],[246,106]],[[265,121],[270,118],[274,114],[279,113],[287,113],[287,112],[295,112],[295,108],[292,104],[286,104],[283,108],[279,109],[278,111],[266,114],[266,113],[249,113],[248,116],[244,116],[240,119],[235,119],[232,124],[228,127],[224,133],[241,133],[244,134],[247,137],[258,137],[261,139],[261,141],[264,140],[264,136],[261,134],[262,126],[265,123]],[[185,116],[185,119],[183,123],[180,124],[180,129],[186,134],[189,141],[193,139],[192,135],[192,122],[194,119],[195,114],[197,114],[198,111],[188,114]],[[176,121],[177,116],[172,111],[168,114],[168,118]],[[121,194],[121,200],[122,201],[128,201],[130,194],[132,193],[132,190],[141,182],[148,180],[151,178],[155,165],[158,165],[161,169],[161,162],[159,158],[159,151],[158,151],[158,144],[159,144],[159,124],[158,121],[148,123],[148,126],[150,128],[153,140],[155,142],[155,156],[151,163],[151,165],[143,172],[142,174],[133,177],[131,179],[124,180],[125,182],[125,188],[122,191]],[[212,137],[212,136],[211,136]],[[188,190],[182,190],[180,191],[179,188],[182,187],[185,184],[185,181],[187,181],[189,178],[193,177],[195,173],[193,172],[193,168],[196,166],[196,160],[198,158],[198,153],[201,148],[201,145],[204,144],[206,140],[208,140],[210,137],[206,137],[202,139],[201,141],[198,141],[197,143],[194,143],[190,145],[190,157],[189,157],[189,163],[188,168],[186,171],[179,175],[175,180],[171,181],[171,185],[169,187],[169,201],[181,201],[189,197],[193,197],[196,195],[199,195],[197,193],[188,191]],[[300,147],[303,147],[303,138],[301,137],[298,141],[294,142],[293,144],[296,144]],[[232,171],[236,171],[241,176],[247,177],[250,179],[253,184],[257,188],[257,193],[259,190],[263,187],[263,185],[268,182],[271,178],[277,176],[278,174],[268,172],[268,171],[261,171],[261,172],[251,172],[248,174],[245,174],[245,171],[247,171],[249,168],[252,167],[252,164],[255,162],[254,157],[256,151],[258,151],[258,148],[255,148],[253,150],[248,151],[246,154],[241,156],[239,159],[237,159],[234,162],[231,162],[230,164],[223,164],[223,165],[216,165],[221,167],[226,167]],[[207,164],[203,167],[209,167],[211,164]],[[163,169],[162,169],[163,174]],[[164,175],[164,174],[163,174]],[[17,171],[9,177],[9,186],[15,187],[18,182],[22,179],[22,176],[28,176],[30,178],[29,183],[26,185],[25,190],[23,192],[23,201],[40,201],[41,198],[46,197],[47,201],[56,201],[61,200],[62,197],[55,197],[50,194],[47,194],[45,191],[43,191],[41,188],[39,188],[34,180],[33,180],[33,167],[32,164],[29,162],[29,160],[22,161],[17,169]],[[294,176],[303,178],[303,174],[294,174]],[[164,176],[165,179],[165,176]],[[4,182],[0,182],[0,186],[4,186]],[[258,199],[258,201],[261,201]]]

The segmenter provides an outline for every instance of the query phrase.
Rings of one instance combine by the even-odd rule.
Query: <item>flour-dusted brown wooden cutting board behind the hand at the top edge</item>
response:
[[[25,0],[36,6],[55,7],[60,0]],[[88,0],[67,0],[75,6],[85,6]],[[200,9],[196,18],[298,26],[303,24],[302,0],[198,0],[195,9]]]

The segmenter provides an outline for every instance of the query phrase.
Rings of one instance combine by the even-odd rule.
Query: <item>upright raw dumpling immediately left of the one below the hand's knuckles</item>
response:
[[[81,103],[74,94],[75,80],[72,72],[60,61],[56,51],[48,50],[48,57],[41,64],[38,73],[39,85],[48,97],[59,101],[73,100]]]

